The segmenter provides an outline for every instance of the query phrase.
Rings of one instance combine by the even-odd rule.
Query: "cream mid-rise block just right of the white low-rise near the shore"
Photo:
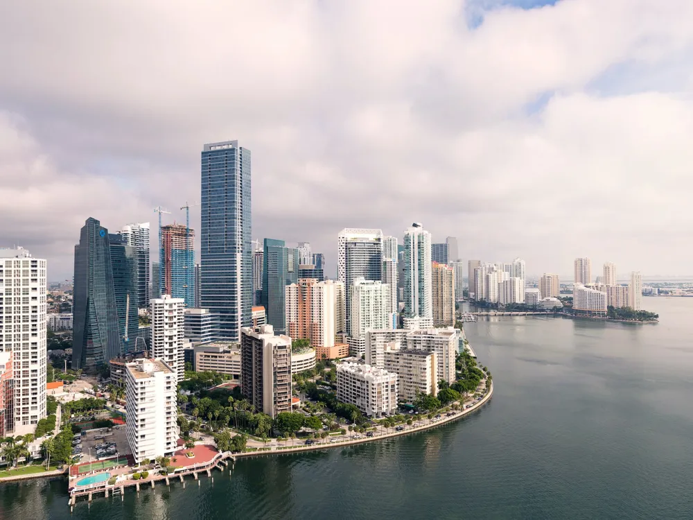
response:
[[[394,345],[392,343],[391,345]],[[385,370],[398,376],[399,401],[412,404],[418,394],[438,393],[435,352],[414,349],[385,350]]]

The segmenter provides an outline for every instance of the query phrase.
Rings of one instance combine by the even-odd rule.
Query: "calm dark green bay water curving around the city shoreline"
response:
[[[76,506],[75,519],[691,519],[693,299],[660,324],[466,325],[491,402],[453,425],[353,449],[243,460]],[[0,486],[0,519],[68,519],[66,485]]]

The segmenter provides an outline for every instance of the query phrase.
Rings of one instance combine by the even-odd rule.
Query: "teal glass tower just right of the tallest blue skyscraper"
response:
[[[265,239],[263,255],[262,306],[267,323],[279,334],[286,333],[286,286],[299,275],[299,252],[283,240]]]

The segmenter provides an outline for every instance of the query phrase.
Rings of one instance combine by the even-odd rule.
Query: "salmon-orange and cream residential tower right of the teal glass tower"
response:
[[[336,285],[342,282],[302,278],[286,286],[286,326],[292,339],[310,340],[315,349],[335,345]]]

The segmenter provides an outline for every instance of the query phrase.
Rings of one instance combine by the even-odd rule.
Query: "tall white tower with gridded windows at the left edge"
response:
[[[0,352],[12,352],[11,421],[15,435],[25,435],[46,417],[46,261],[0,248],[0,287]]]

